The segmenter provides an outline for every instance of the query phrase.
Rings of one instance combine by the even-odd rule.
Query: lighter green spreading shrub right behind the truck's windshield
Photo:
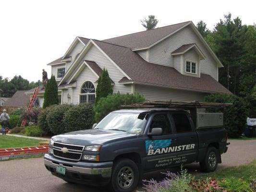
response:
[[[130,105],[145,101],[144,96],[139,94],[114,94],[100,98],[94,106],[95,121],[98,122],[108,115],[111,111],[120,109],[122,105]]]

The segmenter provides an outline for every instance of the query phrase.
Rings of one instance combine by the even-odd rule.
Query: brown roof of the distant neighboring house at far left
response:
[[[29,104],[30,96],[26,95],[27,91],[16,91],[16,93],[8,99],[4,106],[9,107],[26,107]]]

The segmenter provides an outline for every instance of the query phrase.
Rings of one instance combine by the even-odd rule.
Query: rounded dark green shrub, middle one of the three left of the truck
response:
[[[53,134],[61,134],[65,132],[64,125],[64,115],[70,110],[73,105],[56,105],[49,110],[49,113],[46,116],[46,120],[50,129],[50,132]]]

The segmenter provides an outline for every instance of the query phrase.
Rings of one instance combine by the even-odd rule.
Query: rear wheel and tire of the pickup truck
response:
[[[217,156],[218,156],[218,150],[213,146],[209,146],[207,148],[207,152],[204,160],[200,162],[200,167],[205,172],[215,171],[218,166]]]

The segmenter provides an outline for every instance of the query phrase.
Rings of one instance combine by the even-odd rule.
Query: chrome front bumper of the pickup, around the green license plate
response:
[[[53,175],[65,181],[91,185],[106,185],[110,181],[113,162],[73,162],[45,154],[44,164],[47,170]],[[56,172],[57,166],[60,165],[66,168],[64,175]]]

